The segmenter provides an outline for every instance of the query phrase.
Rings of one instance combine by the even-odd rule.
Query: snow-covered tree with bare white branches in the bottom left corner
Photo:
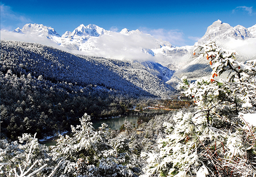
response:
[[[1,176],[48,176],[47,173],[51,173],[48,148],[39,144],[35,135],[32,137],[30,134],[23,134],[19,137],[19,142],[9,143],[6,139],[0,140]]]

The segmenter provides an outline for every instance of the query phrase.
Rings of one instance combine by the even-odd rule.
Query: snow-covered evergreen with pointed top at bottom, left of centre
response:
[[[71,126],[72,136],[60,135],[53,147],[53,160],[62,161],[57,175],[88,177],[132,177],[140,173],[135,157],[132,157],[126,137],[110,139],[107,124],[96,131],[86,113],[80,119],[81,125]]]

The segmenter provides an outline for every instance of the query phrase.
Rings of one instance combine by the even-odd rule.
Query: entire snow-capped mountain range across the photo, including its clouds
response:
[[[176,78],[183,75],[197,78],[211,71],[205,60],[192,55],[192,50],[197,45],[214,40],[217,45],[225,49],[238,49],[238,60],[241,61],[251,57],[245,57],[244,53],[239,53],[239,50],[244,48],[248,53],[248,47],[245,45],[252,48],[256,45],[253,41],[256,39],[256,25],[248,29],[240,25],[232,27],[221,20],[213,22],[194,46],[182,47],[174,47],[169,42],[156,39],[138,29],[130,31],[124,28],[116,33],[93,24],[87,26],[81,24],[74,31],[66,31],[62,36],[52,27],[39,24],[26,24],[22,29],[17,28],[14,32],[46,37],[63,47],[64,50],[73,50],[72,52],[75,53],[82,51],[83,55],[140,61],[146,67],[145,69],[164,82],[173,77],[174,70]],[[242,41],[247,42],[241,43]]]

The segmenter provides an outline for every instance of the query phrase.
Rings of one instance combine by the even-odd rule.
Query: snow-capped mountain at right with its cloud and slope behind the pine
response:
[[[256,25],[247,29],[241,25],[232,27],[217,20],[208,27],[205,35],[191,47],[193,49],[210,41],[215,41],[224,49],[236,50],[237,60],[240,62],[256,59]],[[205,58],[195,57],[192,52],[188,53],[186,58],[184,66],[176,70],[173,77],[181,78],[187,75],[190,79],[197,79],[211,74],[212,69],[207,65]],[[172,80],[167,83],[171,82]]]

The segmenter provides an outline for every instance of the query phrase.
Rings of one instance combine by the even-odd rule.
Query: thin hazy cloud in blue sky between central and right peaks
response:
[[[143,33],[150,34],[154,36],[154,38],[162,39],[165,41],[169,41],[174,46],[184,46],[186,45],[186,41],[184,39],[184,33],[178,29],[148,29],[145,27],[141,27],[140,30]]]

